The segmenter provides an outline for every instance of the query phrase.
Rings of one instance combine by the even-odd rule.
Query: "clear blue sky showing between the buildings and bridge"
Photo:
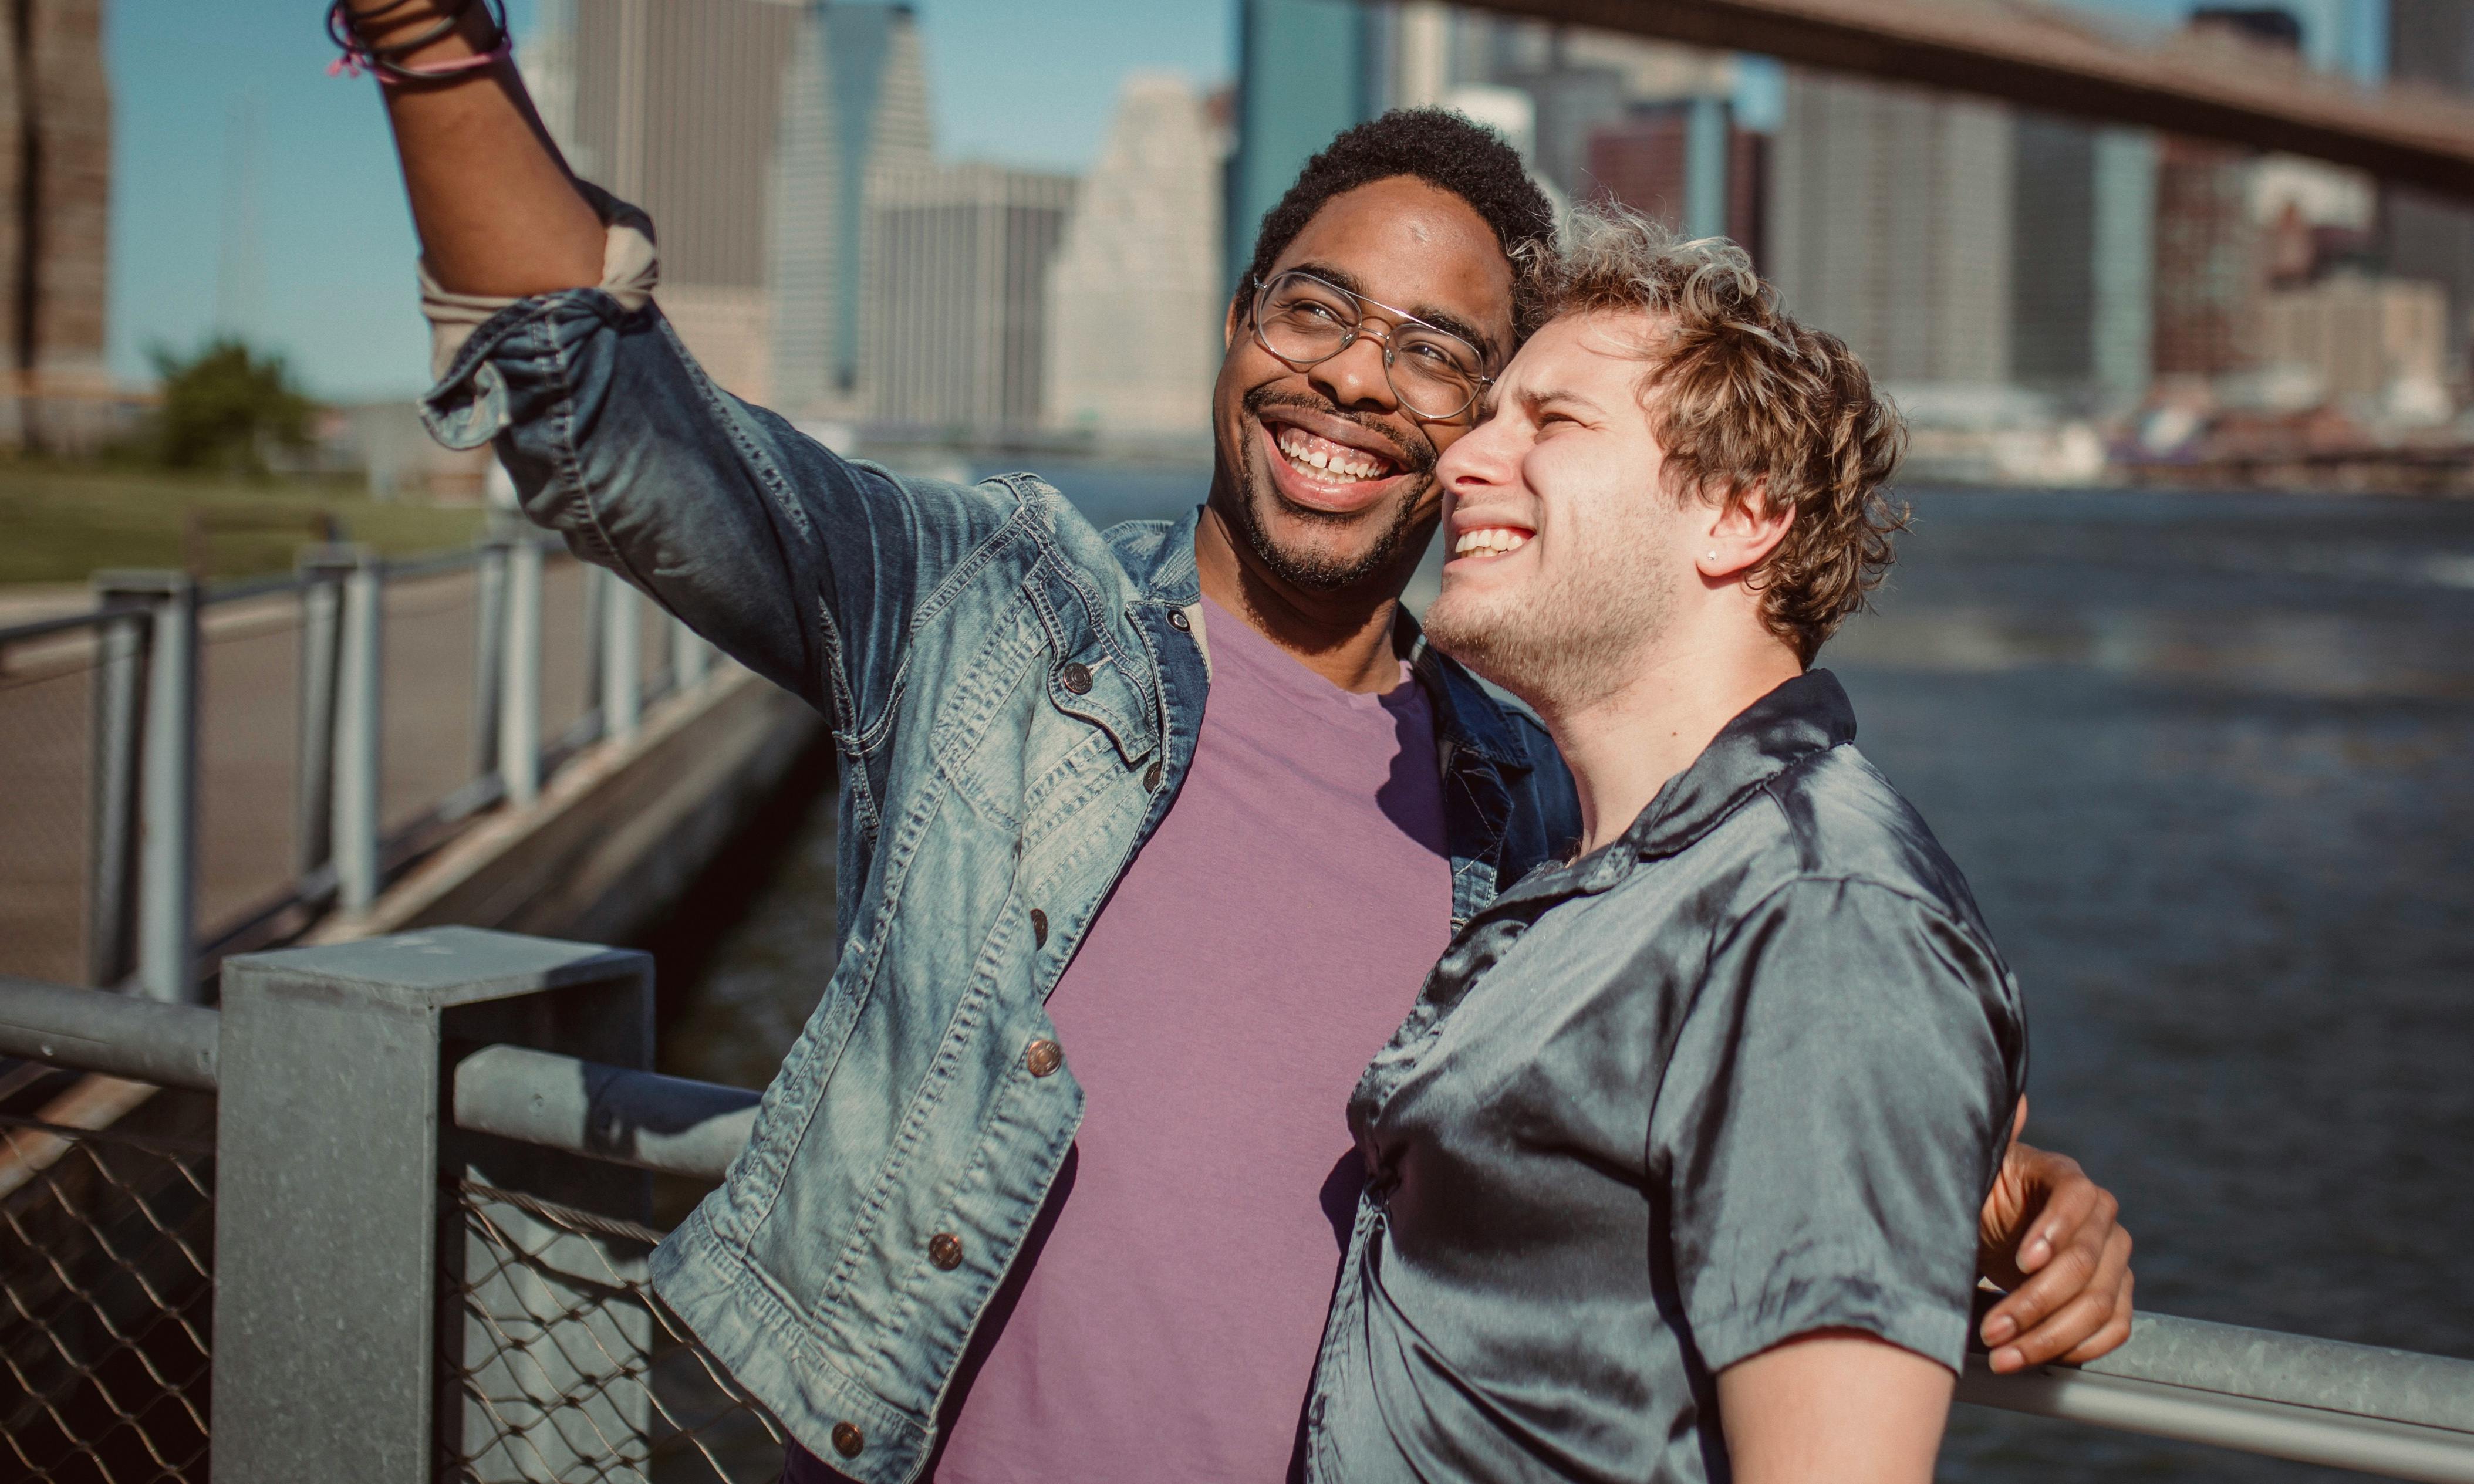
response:
[[[675,0],[661,0],[675,2]],[[2078,0],[2170,25],[2192,0]],[[2378,69],[2380,0],[2284,0],[2321,64]],[[1232,69],[1227,0],[918,0],[938,148],[1084,168],[1131,67]],[[327,77],[314,0],[111,0],[111,371],[151,378],[148,346],[215,322],[235,116],[255,119],[257,287],[250,339],[312,393],[408,396],[428,366],[413,230],[376,84]],[[532,0],[515,2],[522,35]],[[2335,42],[2355,37],[2353,54]]]

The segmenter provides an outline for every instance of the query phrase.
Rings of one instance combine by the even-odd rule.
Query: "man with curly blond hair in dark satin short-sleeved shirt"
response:
[[[1311,1477],[1925,1484],[2026,1026],[1813,655],[1900,423],[1729,242],[1620,213],[1437,463],[1427,636],[1583,836],[1452,937],[1351,1101]]]

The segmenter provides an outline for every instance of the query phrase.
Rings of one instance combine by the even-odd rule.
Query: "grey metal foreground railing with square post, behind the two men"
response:
[[[79,1427],[139,1430],[171,1439],[153,1444],[161,1472],[104,1477],[198,1477],[183,1462],[195,1454],[181,1449],[203,1452],[208,1415],[176,1363],[124,1363],[114,1375],[143,1380],[89,1385],[151,1323],[190,1350],[166,1338],[146,1355],[186,1355],[188,1375],[210,1355],[225,1477],[779,1472],[779,1422],[643,1279],[661,1242],[648,1224],[651,1175],[720,1180],[757,1103],[750,1091],[648,1071],[643,955],[465,927],[267,952],[228,960],[220,1014],[0,979],[0,1054],[215,1091],[220,1130],[213,1158],[195,1138],[129,1135],[131,1148],[156,1140],[153,1185],[143,1162],[109,1165],[99,1185],[79,1175],[121,1192],[119,1214],[82,1195],[72,1217],[94,1234],[111,1224],[114,1239],[96,1247],[131,1274],[116,1306],[94,1298],[109,1281],[54,1271],[42,1217],[27,1214],[59,1200],[69,1175],[52,1170],[64,1155],[45,1170],[49,1185],[0,1197],[5,1232],[17,1234],[0,1274],[10,1301],[0,1355],[17,1388],[0,1397],[12,1407],[0,1422],[12,1444],[20,1417],[40,1420],[27,1437],[54,1452],[99,1452]],[[20,1120],[10,1138],[22,1133]],[[94,1135],[30,1133],[64,1135],[104,1167]],[[299,1192],[319,1200],[304,1205]],[[289,1195],[287,1222],[245,1214],[277,1195]],[[220,1244],[203,1239],[203,1209]],[[421,1234],[440,1232],[423,1254]],[[178,1284],[136,1276],[178,1276],[183,1264],[190,1289],[213,1264],[213,1328]],[[408,1271],[435,1271],[435,1291],[406,1284]],[[62,1348],[49,1370],[20,1363],[59,1328],[42,1316],[79,1303],[104,1313],[101,1350]],[[106,1392],[109,1402],[94,1400]],[[2130,1343],[2091,1365],[1994,1378],[1972,1360],[1959,1400],[2395,1479],[2474,1482],[2474,1360],[2140,1316]],[[54,1477],[22,1449],[17,1462]]]

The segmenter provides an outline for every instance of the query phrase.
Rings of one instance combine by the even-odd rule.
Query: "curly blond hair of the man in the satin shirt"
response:
[[[1747,581],[1769,631],[1811,665],[1907,529],[1885,495],[1907,443],[1898,408],[1846,341],[1786,314],[1742,247],[1685,242],[1623,205],[1573,213],[1546,302],[1650,317],[1638,393],[1670,495],[1794,510]]]

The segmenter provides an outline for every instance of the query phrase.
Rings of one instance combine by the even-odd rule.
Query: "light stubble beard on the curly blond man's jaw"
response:
[[[1623,690],[1640,650],[1675,623],[1680,574],[1643,532],[1608,532],[1608,549],[1514,591],[1442,584],[1425,636],[1475,675],[1522,697],[1541,717]]]

